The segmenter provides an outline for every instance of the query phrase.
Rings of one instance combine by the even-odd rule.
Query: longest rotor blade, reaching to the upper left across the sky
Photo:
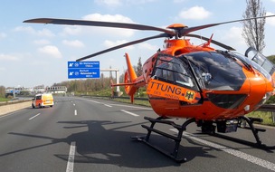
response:
[[[87,25],[87,26],[101,26],[101,27],[117,27],[125,29],[135,29],[142,31],[159,31],[171,36],[175,35],[172,30],[154,27],[150,25],[143,24],[127,24],[127,23],[115,23],[115,22],[100,22],[100,21],[89,21],[89,20],[71,20],[71,19],[57,19],[57,18],[36,18],[25,20],[24,23],[34,23],[34,24],[68,24],[68,25]]]

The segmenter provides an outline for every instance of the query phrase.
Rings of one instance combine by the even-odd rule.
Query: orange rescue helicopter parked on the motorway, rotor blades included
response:
[[[208,39],[191,33],[219,24],[230,24],[273,16],[275,15],[194,27],[187,27],[184,24],[172,24],[166,29],[142,24],[54,18],[37,18],[26,20],[24,23],[88,25],[161,32],[155,36],[120,44],[99,53],[90,54],[77,61],[83,61],[102,53],[108,53],[147,40],[166,38],[165,49],[157,51],[147,59],[143,64],[143,74],[141,76],[137,77],[128,53],[126,53],[128,70],[125,72],[125,81],[120,84],[112,84],[112,87],[125,86],[125,91],[131,102],[133,102],[137,89],[146,86],[148,100],[159,117],[157,119],[145,117],[151,122],[150,127],[142,125],[143,128],[147,129],[147,136],[135,138],[144,141],[147,145],[156,148],[176,161],[182,161],[185,158],[178,158],[177,156],[180,141],[187,125],[192,122],[201,127],[203,133],[210,134],[236,131],[238,127],[246,122],[256,139],[255,145],[264,147],[258,136],[258,131],[263,131],[263,129],[255,129],[253,126],[254,121],[261,121],[261,119],[251,119],[244,115],[257,110],[272,95],[275,87],[275,82],[273,82],[275,79],[274,64],[253,48],[249,48],[245,55],[242,55],[234,52],[232,47],[214,41],[212,39],[213,35]],[[181,39],[182,37],[183,39]],[[194,45],[185,37],[203,39],[206,43]],[[225,51],[215,50],[210,47],[210,43],[222,47]],[[185,118],[186,121],[184,124],[178,125],[169,120],[170,118]],[[154,129],[156,123],[175,127],[178,130],[178,135],[175,137]],[[163,148],[152,145],[149,142],[151,132],[156,132],[174,140],[174,151],[167,153]]]

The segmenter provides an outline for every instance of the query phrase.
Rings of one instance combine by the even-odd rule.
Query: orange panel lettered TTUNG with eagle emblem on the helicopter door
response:
[[[147,85],[147,94],[173,100],[184,100],[196,103],[200,99],[198,92],[164,81],[152,79]]]

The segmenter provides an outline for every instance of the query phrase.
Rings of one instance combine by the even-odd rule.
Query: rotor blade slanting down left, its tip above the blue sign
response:
[[[119,44],[118,46],[111,47],[111,48],[109,48],[109,49],[100,51],[100,52],[98,52],[98,53],[92,53],[92,54],[87,55],[87,56],[85,56],[85,57],[82,57],[82,58],[80,58],[80,59],[78,59],[78,60],[76,60],[76,61],[77,61],[77,62],[80,62],[80,61],[89,59],[89,58],[91,58],[91,57],[100,55],[100,54],[102,54],[102,53],[108,53],[108,52],[111,52],[111,51],[114,51],[114,50],[117,50],[117,49],[120,49],[120,48],[129,46],[129,45],[132,45],[132,44],[142,43],[142,42],[145,42],[145,41],[148,41],[148,40],[152,40],[152,39],[156,39],[156,38],[169,37],[169,36],[170,36],[170,35],[167,34],[167,33],[160,33],[160,34],[157,34],[156,36],[150,36],[150,37],[143,38],[143,39],[140,39],[140,40],[136,40],[136,41],[133,41],[133,42],[128,42],[128,43]]]

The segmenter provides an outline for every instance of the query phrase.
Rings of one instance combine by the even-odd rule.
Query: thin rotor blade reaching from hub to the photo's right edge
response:
[[[187,28],[183,28],[180,33],[179,36],[184,36],[187,33],[192,33],[194,31],[198,31],[201,29],[205,29],[208,27],[213,27],[216,25],[220,25],[220,24],[231,24],[231,23],[236,23],[236,22],[243,22],[243,21],[247,21],[247,20],[253,20],[253,19],[260,19],[260,18],[268,18],[268,17],[274,17],[275,14],[273,15],[265,15],[265,16],[259,16],[259,17],[252,17],[252,18],[245,18],[245,19],[241,19],[241,20],[233,20],[233,21],[228,21],[228,22],[222,22],[222,23],[216,23],[216,24],[205,24],[205,25],[199,25],[199,26],[194,26],[194,27],[187,27]]]

